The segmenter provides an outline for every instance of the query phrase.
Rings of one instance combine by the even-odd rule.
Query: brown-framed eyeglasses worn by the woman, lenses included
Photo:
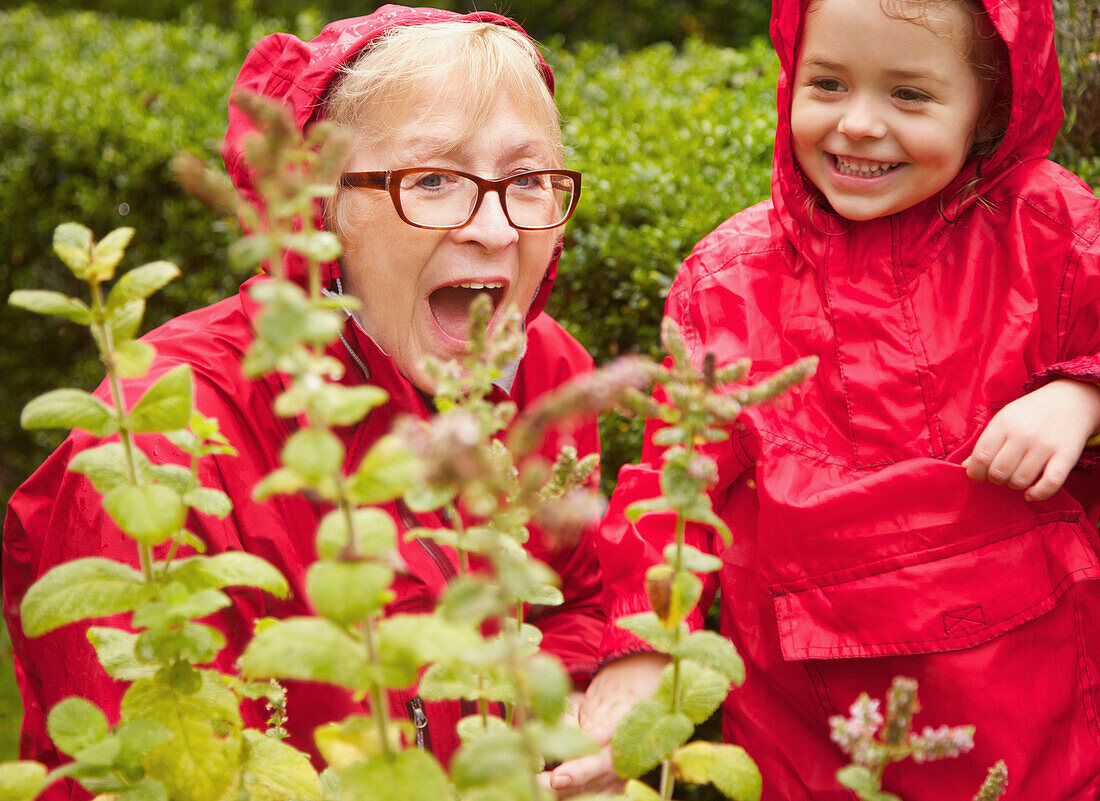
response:
[[[581,195],[581,174],[569,169],[532,169],[499,180],[455,169],[410,167],[344,173],[340,186],[389,193],[397,216],[416,228],[446,231],[462,228],[481,208],[486,191],[495,191],[508,224],[541,231],[564,224]]]

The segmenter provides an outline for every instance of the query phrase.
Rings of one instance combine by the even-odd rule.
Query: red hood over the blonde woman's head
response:
[[[366,17],[332,22],[309,42],[302,42],[288,33],[264,36],[245,57],[233,89],[234,91],[249,89],[284,103],[294,112],[298,130],[304,132],[320,119],[321,102],[341,67],[354,61],[363,48],[391,29],[432,22],[493,22],[526,35],[526,31],[513,20],[487,11],[458,14],[439,9],[383,6]],[[541,56],[539,68],[552,95],[553,73]],[[249,118],[230,102],[229,129],[221,147],[222,158],[241,196],[254,206],[260,206],[261,201],[253,189],[251,171],[244,161],[242,147],[243,139],[253,130]],[[558,273],[560,252],[559,248],[550,260],[542,285],[528,312],[528,320],[546,306]],[[300,278],[302,265],[297,263],[297,260],[288,261],[287,272],[292,277]],[[326,279],[337,277],[339,274],[339,264],[331,263],[323,266]]]

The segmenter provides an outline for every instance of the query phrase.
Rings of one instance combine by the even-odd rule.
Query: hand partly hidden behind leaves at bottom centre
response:
[[[561,798],[580,793],[618,792],[623,779],[612,767],[612,734],[636,701],[651,698],[669,658],[663,654],[632,654],[616,659],[596,673],[581,701],[581,731],[600,750],[562,762],[539,778]]]

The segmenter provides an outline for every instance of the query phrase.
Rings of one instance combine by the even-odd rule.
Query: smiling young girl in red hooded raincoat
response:
[[[772,37],[772,198],[696,246],[667,306],[700,363],[821,360],[793,409],[748,409],[712,453],[733,547],[690,535],[724,561],[722,630],[747,663],[724,736],[766,800],[850,799],[828,717],[901,674],[917,731],[977,735],[888,768],[888,790],[969,799],[1004,759],[1010,801],[1100,798],[1100,200],[1046,161],[1050,3],[777,0]],[[648,607],[671,536],[623,516],[660,464],[647,439],[610,503],[613,618]],[[581,710],[596,736],[652,687],[640,650],[609,626]],[[598,789],[608,766],[550,783]]]

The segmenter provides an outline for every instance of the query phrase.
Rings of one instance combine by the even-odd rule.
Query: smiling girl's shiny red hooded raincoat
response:
[[[1100,798],[1094,454],[1041,503],[971,483],[960,467],[1010,401],[1055,377],[1100,381],[1100,200],[1046,161],[1062,120],[1050,4],[986,0],[1018,88],[977,185],[991,204],[960,199],[969,163],[942,198],[865,222],[811,219],[795,167],[804,4],[773,6],[771,200],[695,248],[666,311],[700,363],[707,351],[748,356],[763,376],[821,360],[812,381],[747,409],[713,449],[733,547],[690,535],[723,560],[708,586],[721,586],[722,632],[747,663],[724,736],[757,760],[767,801],[853,799],[834,778],[847,758],[827,718],[904,674],[920,682],[917,731],[974,723],[976,747],[889,767],[888,790],[968,799],[1004,759],[1008,801]],[[668,515],[623,516],[659,493],[659,465],[647,437],[602,528],[612,618],[648,608],[641,577],[670,538]],[[637,649],[609,626],[602,658]]]

